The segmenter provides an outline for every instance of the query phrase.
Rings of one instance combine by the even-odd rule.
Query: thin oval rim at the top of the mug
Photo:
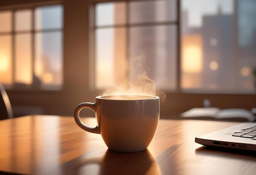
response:
[[[145,97],[145,98],[139,98],[139,99],[111,99],[111,98],[103,98],[103,97],[110,97],[110,96],[140,96],[140,97]],[[149,98],[147,98],[149,97]],[[101,100],[117,100],[117,101],[137,101],[137,100],[157,100],[159,99],[159,96],[154,96],[154,95],[100,95],[96,96],[96,99],[101,99]]]

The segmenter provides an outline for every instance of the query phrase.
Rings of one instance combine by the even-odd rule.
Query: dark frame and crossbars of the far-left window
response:
[[[64,85],[64,79],[62,81],[62,84],[60,85],[60,88],[57,88],[56,90],[52,90],[52,89],[47,89],[47,88],[33,88],[33,77],[35,75],[35,60],[36,60],[36,34],[41,33],[41,34],[45,34],[47,32],[55,32],[55,31],[59,31],[61,32],[62,38],[64,36],[63,32],[64,32],[64,26],[62,25],[61,28],[59,29],[36,29],[36,25],[35,25],[35,12],[36,12],[36,8],[38,7],[47,7],[47,6],[54,6],[54,5],[61,5],[64,9],[63,6],[63,2],[61,1],[49,1],[49,2],[37,2],[37,3],[33,3],[33,4],[17,4],[17,5],[11,5],[11,6],[3,6],[0,7],[0,11],[10,11],[11,12],[11,31],[10,32],[0,32],[0,36],[2,35],[10,35],[11,36],[11,72],[12,72],[12,84],[11,85],[4,85],[4,88],[7,89],[7,91],[11,91],[11,92],[34,92],[34,91],[47,91],[47,92],[58,92],[58,91],[62,91],[63,90],[63,85]],[[15,30],[15,12],[16,11],[21,11],[21,10],[31,10],[31,29],[27,30],[27,31],[16,31]],[[63,13],[63,21],[64,21],[64,13]],[[15,43],[15,38],[18,34],[31,34],[31,76],[32,76],[32,83],[31,84],[27,84],[28,88],[17,88],[15,85],[15,71],[16,71],[16,66],[15,66],[15,49],[16,49],[16,43]],[[61,74],[63,76],[63,57],[64,57],[64,51],[63,51],[63,43],[64,43],[64,38],[62,39],[63,42],[61,43],[61,55],[62,55],[62,71]]]

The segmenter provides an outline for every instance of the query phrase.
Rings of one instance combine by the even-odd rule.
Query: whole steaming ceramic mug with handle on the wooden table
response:
[[[95,99],[95,103],[84,102],[76,106],[74,119],[80,128],[101,134],[110,150],[135,152],[148,148],[159,121],[158,96],[109,95]],[[95,112],[96,127],[81,121],[79,112],[83,108]]]

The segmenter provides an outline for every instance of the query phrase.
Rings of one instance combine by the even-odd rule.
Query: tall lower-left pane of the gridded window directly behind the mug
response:
[[[97,30],[97,88],[124,85],[127,80],[126,33],[125,27]]]

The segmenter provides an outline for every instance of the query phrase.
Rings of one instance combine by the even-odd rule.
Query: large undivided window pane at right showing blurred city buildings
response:
[[[256,65],[256,22],[248,16],[254,18],[255,2],[237,2],[182,1],[183,90],[254,92],[251,70]]]

